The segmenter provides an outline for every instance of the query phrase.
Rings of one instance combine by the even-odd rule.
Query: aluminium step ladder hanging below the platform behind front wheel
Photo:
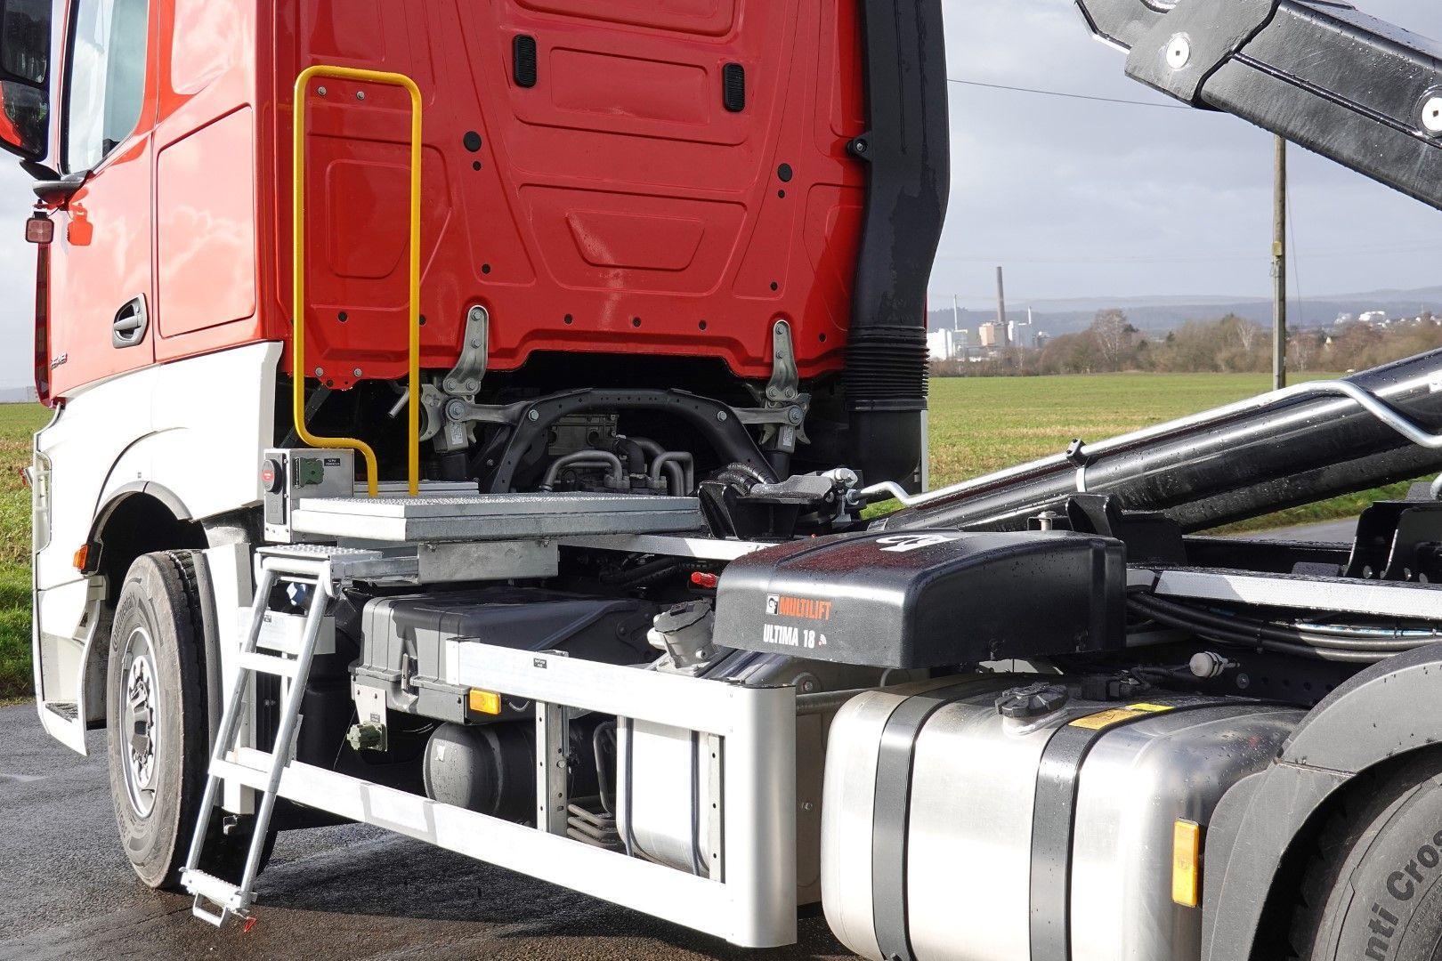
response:
[[[255,902],[255,876],[260,873],[261,853],[265,849],[265,834],[280,792],[286,766],[294,755],[296,735],[300,728],[300,706],[306,696],[306,681],[310,677],[310,663],[316,654],[320,628],[336,596],[336,585],[356,578],[362,579],[407,579],[414,578],[417,562],[414,556],[384,556],[376,550],[327,547],[319,545],[293,545],[287,547],[262,547],[257,558],[255,601],[251,607],[251,622],[238,658],[238,673],[231,697],[226,702],[221,728],[215,738],[215,749],[206,772],[205,794],[200,800],[200,815],[196,820],[190,852],[180,872],[180,885],[192,895],[192,912],[196,918],[221,926],[231,916],[248,918]],[[270,654],[260,648],[270,596],[281,581],[310,585],[304,599],[304,630],[300,643],[287,653]],[[275,743],[271,752],[245,751],[241,759],[236,743],[241,720],[247,716],[257,674],[271,674],[290,681],[284,697]],[[257,766],[260,765],[260,766]],[[251,830],[245,869],[239,883],[208,875],[200,870],[205,839],[215,814],[218,791],[222,779],[244,768],[247,774],[261,775],[257,785],[260,800]],[[208,909],[213,905],[216,911]]]

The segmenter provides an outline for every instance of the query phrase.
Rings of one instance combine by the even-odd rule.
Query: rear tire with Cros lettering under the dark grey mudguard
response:
[[[1318,836],[1299,961],[1442,961],[1442,755],[1363,775]]]

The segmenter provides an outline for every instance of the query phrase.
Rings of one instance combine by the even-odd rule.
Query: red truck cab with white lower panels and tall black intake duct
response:
[[[258,510],[261,452],[306,435],[280,402],[296,376],[316,431],[372,445],[382,480],[404,473],[410,101],[352,79],[301,92],[296,251],[310,66],[421,91],[425,480],[535,490],[580,431],[653,437],[701,475],[740,460],[921,484],[947,130],[939,6],[906,6],[0,3],[0,141],[36,176],[49,235],[36,385],[58,414],[35,474],[52,729],[79,745],[101,718],[94,640],[128,563]],[[477,390],[448,389],[461,363]],[[718,428],[695,396],[735,416]],[[536,398],[554,399],[547,431],[522,444],[496,425]]]

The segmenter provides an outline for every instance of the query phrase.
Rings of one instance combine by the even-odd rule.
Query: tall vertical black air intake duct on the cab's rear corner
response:
[[[870,130],[844,385],[851,465],[868,483],[914,488],[926,428],[926,285],[950,190],[940,0],[861,0]]]

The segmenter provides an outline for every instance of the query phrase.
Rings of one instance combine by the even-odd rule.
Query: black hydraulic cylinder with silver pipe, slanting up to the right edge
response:
[[[968,481],[880,523],[1017,530],[1086,490],[1195,532],[1442,470],[1442,350],[1345,383],[1380,401],[1379,411],[1304,385]],[[1428,432],[1417,438],[1426,444],[1399,424]]]

